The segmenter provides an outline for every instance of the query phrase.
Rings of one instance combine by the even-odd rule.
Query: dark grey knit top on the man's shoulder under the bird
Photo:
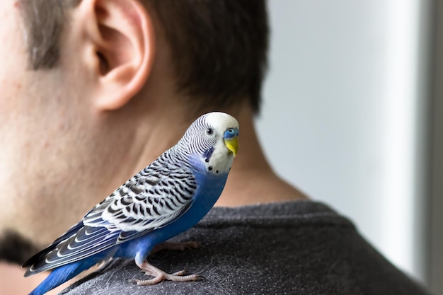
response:
[[[115,260],[61,294],[427,294],[364,241],[349,220],[318,202],[215,207],[173,241],[203,246],[163,250],[149,262],[204,279],[137,286],[129,280],[147,278],[137,265]]]

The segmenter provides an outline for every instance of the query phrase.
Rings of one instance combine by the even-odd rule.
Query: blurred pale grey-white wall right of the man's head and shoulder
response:
[[[275,170],[424,281],[426,0],[269,0]]]

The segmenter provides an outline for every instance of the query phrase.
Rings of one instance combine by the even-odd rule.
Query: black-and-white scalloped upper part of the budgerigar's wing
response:
[[[171,159],[171,150],[119,187],[85,218],[87,226],[122,231],[119,241],[171,224],[192,204],[197,189],[185,161]]]

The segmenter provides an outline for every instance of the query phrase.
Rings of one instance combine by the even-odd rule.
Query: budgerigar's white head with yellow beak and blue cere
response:
[[[224,112],[209,112],[190,125],[183,140],[198,168],[222,175],[229,172],[238,151],[238,122]]]

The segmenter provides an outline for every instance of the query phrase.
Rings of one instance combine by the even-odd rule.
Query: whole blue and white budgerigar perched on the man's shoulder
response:
[[[223,112],[199,117],[168,151],[40,253],[27,260],[25,277],[52,270],[30,295],[41,295],[110,258],[130,258],[153,279],[192,281],[149,264],[156,245],[197,224],[222,193],[238,151],[238,122]]]

